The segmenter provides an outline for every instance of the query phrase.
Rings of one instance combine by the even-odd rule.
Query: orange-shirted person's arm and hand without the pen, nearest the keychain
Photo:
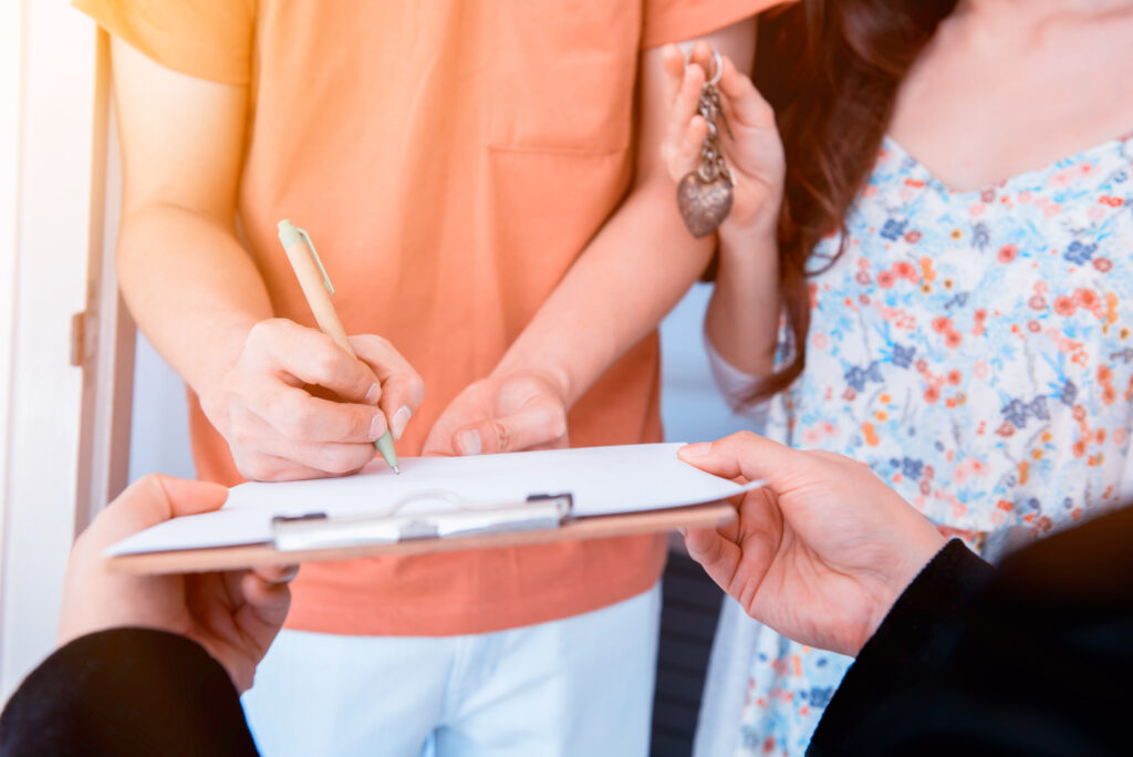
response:
[[[746,69],[755,57],[755,24],[738,22],[705,39]],[[492,375],[444,410],[426,440],[427,454],[476,452],[477,441],[483,453],[565,445],[570,407],[707,267],[715,240],[693,239],[685,230],[662,159],[671,99],[662,50],[646,51],[640,70],[630,194]]]

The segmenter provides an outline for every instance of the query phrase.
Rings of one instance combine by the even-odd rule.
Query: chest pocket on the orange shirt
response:
[[[637,3],[495,0],[486,26],[491,147],[580,155],[629,148]]]

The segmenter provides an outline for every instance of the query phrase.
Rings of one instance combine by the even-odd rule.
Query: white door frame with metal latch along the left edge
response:
[[[74,536],[125,483],[107,50],[66,0],[0,2],[0,701],[51,650]]]

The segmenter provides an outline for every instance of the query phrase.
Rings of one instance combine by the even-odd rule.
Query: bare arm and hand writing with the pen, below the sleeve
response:
[[[424,399],[420,376],[380,337],[352,337],[353,360],[321,332],[272,317],[236,236],[246,87],[172,71],[117,39],[112,54],[118,275],[135,320],[201,398],[241,475],[357,470],[373,439],[404,431]]]

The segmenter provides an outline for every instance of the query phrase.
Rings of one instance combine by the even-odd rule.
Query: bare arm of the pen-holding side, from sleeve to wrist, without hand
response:
[[[198,394],[220,382],[257,321],[263,280],[236,238],[247,87],[111,46],[122,145],[118,278],[138,325]]]

